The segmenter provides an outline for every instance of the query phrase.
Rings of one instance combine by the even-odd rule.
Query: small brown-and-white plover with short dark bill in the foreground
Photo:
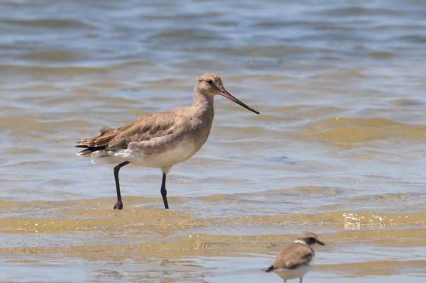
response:
[[[302,233],[294,243],[281,250],[273,265],[264,271],[275,272],[284,279],[284,283],[287,282],[287,279],[294,278],[300,278],[300,283],[302,283],[303,277],[310,270],[310,263],[315,256],[315,252],[310,246],[316,243],[324,245],[314,233]]]

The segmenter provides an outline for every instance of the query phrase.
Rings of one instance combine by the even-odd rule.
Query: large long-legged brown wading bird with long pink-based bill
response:
[[[197,77],[192,106],[144,115],[120,128],[102,127],[97,137],[77,141],[77,148],[84,148],[77,155],[92,157],[92,162],[116,165],[114,209],[123,209],[119,170],[129,163],[163,171],[160,192],[168,209],[165,177],[173,165],[192,157],[204,145],[212,128],[213,100],[217,94],[259,114],[226,91],[217,74],[204,73]]]

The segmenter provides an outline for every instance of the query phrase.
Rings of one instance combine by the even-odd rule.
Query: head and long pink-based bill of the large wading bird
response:
[[[230,101],[234,101],[236,104],[243,106],[245,109],[249,109],[250,111],[260,114],[258,111],[252,109],[251,107],[244,104],[244,102],[236,99],[232,94],[230,94],[224,87],[222,83],[222,79],[214,73],[204,73],[200,74],[197,77],[197,84],[195,85],[195,91],[200,94],[204,94],[204,96],[214,97],[219,94]]]

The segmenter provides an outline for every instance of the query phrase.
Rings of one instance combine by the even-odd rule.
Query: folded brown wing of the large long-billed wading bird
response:
[[[120,128],[102,127],[97,137],[77,141],[77,147],[91,151],[137,148],[144,154],[153,154],[178,138],[188,122],[176,111],[148,114]]]

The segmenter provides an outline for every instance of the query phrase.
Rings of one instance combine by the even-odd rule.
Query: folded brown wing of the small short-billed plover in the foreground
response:
[[[287,268],[293,270],[299,266],[307,265],[314,255],[314,250],[308,245],[293,243],[278,253],[275,262],[273,262],[273,267],[275,269]]]

